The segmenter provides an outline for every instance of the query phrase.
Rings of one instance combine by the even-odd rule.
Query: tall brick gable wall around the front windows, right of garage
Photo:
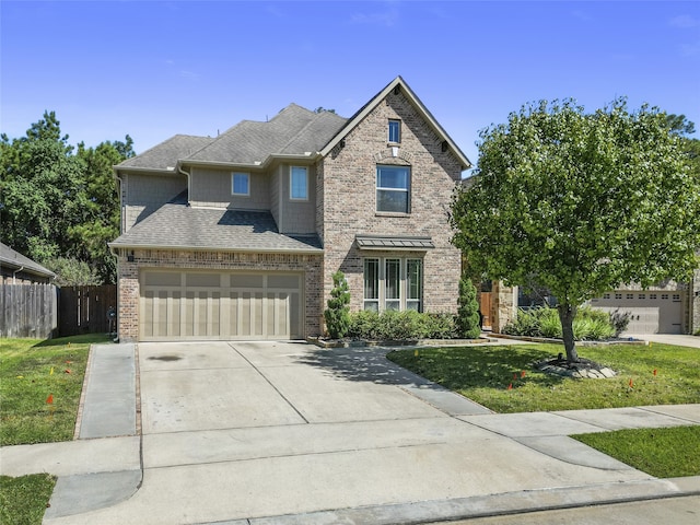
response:
[[[401,121],[400,143],[387,142],[389,119]],[[404,94],[388,94],[348,133],[345,144],[336,147],[319,164],[316,221],[325,249],[324,302],[330,298],[330,276],[340,269],[350,287],[351,310],[361,310],[362,258],[397,256],[397,252],[360,253],[355,234],[430,236],[435,248],[425,252],[423,258],[423,311],[456,312],[460,255],[450,243],[453,231],[447,213],[462,170],[450,151],[442,151],[441,137]],[[377,164],[410,166],[410,213],[377,213]]]

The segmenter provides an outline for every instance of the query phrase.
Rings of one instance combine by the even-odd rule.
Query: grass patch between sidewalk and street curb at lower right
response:
[[[619,430],[572,438],[657,478],[700,476],[700,427]]]

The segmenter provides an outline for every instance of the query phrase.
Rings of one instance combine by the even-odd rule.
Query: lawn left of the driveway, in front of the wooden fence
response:
[[[108,341],[103,335],[1,339],[0,445],[72,440],[90,343]]]

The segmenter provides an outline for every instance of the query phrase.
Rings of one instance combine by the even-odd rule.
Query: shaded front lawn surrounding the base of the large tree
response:
[[[580,357],[619,373],[609,380],[562,378],[533,369],[534,362],[562,351],[560,345],[472,346],[421,349],[418,355],[398,350],[388,359],[497,412],[700,402],[699,349],[658,343],[580,347]]]

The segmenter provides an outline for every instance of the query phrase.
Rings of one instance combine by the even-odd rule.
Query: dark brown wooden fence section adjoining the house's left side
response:
[[[59,293],[61,337],[116,331],[117,287],[65,287]],[[112,310],[109,310],[112,308]],[[110,316],[109,313],[115,315]]]

